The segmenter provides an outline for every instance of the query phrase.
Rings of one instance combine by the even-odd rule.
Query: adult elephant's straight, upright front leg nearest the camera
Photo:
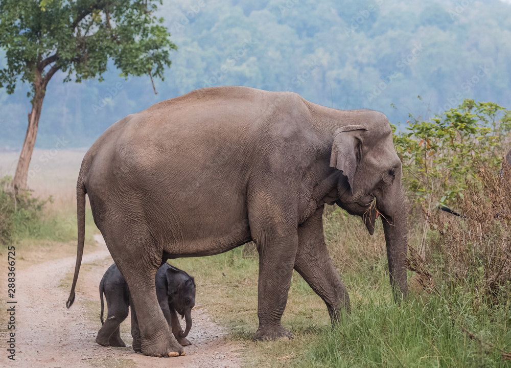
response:
[[[293,334],[282,327],[281,319],[286,308],[298,237],[296,229],[285,236],[275,236],[282,231],[270,231],[258,241],[259,248],[259,288],[258,317],[259,328],[254,338],[274,340],[292,338]]]

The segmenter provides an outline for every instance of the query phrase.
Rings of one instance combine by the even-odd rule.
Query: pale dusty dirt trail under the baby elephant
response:
[[[154,358],[136,354],[131,346],[105,348],[95,342],[99,321],[99,282],[113,262],[101,236],[99,250],[84,255],[71,309],[65,308],[69,288],[62,280],[72,272],[76,259],[66,257],[19,270],[16,274],[16,360],[7,359],[4,350],[0,362],[6,367],[239,367],[241,347],[225,338],[227,331],[210,321],[206,311],[197,306],[192,312],[189,335],[193,345],[187,355],[177,358]],[[80,284],[78,285],[80,286]],[[124,321],[129,331],[130,317]],[[122,334],[128,344],[131,336]],[[5,341],[5,340],[4,340]]]

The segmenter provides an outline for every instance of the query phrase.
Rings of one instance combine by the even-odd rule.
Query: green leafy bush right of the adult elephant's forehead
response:
[[[511,129],[506,108],[466,99],[430,121],[410,118],[406,131],[394,127],[394,145],[416,203],[451,204],[477,180],[475,162],[500,168]]]

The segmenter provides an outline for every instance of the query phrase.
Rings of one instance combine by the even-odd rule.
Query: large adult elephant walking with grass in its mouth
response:
[[[401,162],[381,112],[336,110],[288,92],[212,87],[113,124],[86,153],[78,177],[78,255],[68,305],[83,252],[85,193],[129,285],[146,355],[182,352],[156,304],[161,262],[219,254],[251,240],[260,266],[256,339],[292,336],[281,317],[293,269],[333,321],[341,308],[349,311],[323,238],[325,204],[362,217],[370,234],[382,215],[390,283],[396,298],[407,294]]]

